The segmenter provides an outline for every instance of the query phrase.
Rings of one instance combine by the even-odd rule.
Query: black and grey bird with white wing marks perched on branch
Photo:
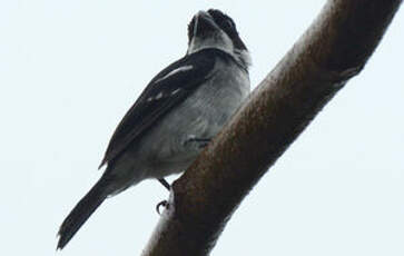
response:
[[[160,71],[125,115],[109,141],[101,178],[59,229],[63,248],[109,196],[148,178],[188,168],[249,93],[250,57],[230,17],[199,11],[188,24],[184,58]]]

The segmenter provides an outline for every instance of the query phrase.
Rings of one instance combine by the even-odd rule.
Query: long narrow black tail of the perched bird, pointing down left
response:
[[[70,214],[66,217],[59,228],[59,242],[57,249],[62,249],[91,214],[102,204],[108,196],[107,183],[105,179],[98,183],[81,198]]]

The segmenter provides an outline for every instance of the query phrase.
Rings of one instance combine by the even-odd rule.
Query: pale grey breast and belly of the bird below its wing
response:
[[[230,67],[231,68],[231,67]],[[237,68],[237,67],[233,67]],[[200,152],[189,138],[213,138],[229,120],[249,92],[245,72],[215,76],[188,99],[167,114],[124,152],[109,171],[117,179],[116,193],[146,178],[184,171]]]

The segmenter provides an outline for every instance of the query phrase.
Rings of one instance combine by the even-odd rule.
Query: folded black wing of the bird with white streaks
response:
[[[179,59],[159,72],[118,125],[99,168],[114,160],[129,144],[208,80],[215,61],[215,51],[203,50]]]

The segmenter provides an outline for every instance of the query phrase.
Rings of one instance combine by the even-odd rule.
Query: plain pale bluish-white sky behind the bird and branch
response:
[[[325,1],[0,1],[0,255],[139,255],[166,189],[108,199],[56,253],[58,228],[100,177],[115,127],[218,8],[252,52],[253,88]],[[218,255],[404,255],[404,12],[365,69],[245,198]],[[169,177],[173,181],[176,177]]]

